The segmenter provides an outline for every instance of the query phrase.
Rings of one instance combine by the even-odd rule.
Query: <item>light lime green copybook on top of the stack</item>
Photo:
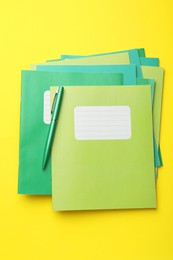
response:
[[[52,199],[59,211],[156,207],[150,86],[64,87]]]

